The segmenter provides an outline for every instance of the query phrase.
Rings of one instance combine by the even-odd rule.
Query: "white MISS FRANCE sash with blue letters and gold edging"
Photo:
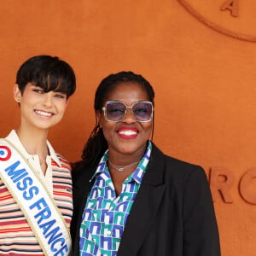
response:
[[[24,155],[6,139],[0,139],[0,177],[20,206],[44,254],[70,255],[70,234],[53,197]]]

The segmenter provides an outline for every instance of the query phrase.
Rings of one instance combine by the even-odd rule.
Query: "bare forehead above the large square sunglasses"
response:
[[[135,82],[124,82],[116,84],[113,90],[109,91],[106,98],[108,101],[119,101],[131,104],[133,102],[148,101],[147,90],[144,89],[142,84]]]

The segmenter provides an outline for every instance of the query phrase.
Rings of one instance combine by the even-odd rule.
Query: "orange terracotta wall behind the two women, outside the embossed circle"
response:
[[[71,161],[95,124],[100,80],[121,70],[142,73],[156,92],[154,142],[207,174],[218,166],[233,176],[233,203],[220,195],[214,202],[223,255],[255,255],[256,205],[238,189],[256,167],[255,43],[212,30],[177,0],[5,0],[0,11],[0,137],[19,125],[15,73],[32,55],[58,55],[77,74],[67,114],[49,133]],[[254,195],[255,185],[254,178]]]

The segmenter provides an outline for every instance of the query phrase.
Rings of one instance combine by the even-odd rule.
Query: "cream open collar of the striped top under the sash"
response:
[[[15,146],[20,150],[20,152],[22,154],[25,155],[26,158],[31,158],[33,155],[32,154],[28,154],[26,152],[26,149],[24,148],[23,144],[20,142],[20,138],[17,135],[17,132],[15,130],[12,130],[8,137],[6,137],[6,139],[8,139],[11,143],[14,143]],[[49,143],[49,141],[46,141],[48,150],[49,150],[49,157],[55,161],[55,163],[61,167],[61,162],[59,160],[59,158],[57,157],[57,155],[55,154],[55,150],[54,148],[52,148],[51,144]]]

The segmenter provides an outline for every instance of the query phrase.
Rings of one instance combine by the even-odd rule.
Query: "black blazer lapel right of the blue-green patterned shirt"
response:
[[[154,164],[157,159],[157,166]],[[150,224],[160,207],[166,185],[163,184],[164,154],[153,144],[148,168],[143,183],[125,224],[125,230],[119,245],[119,256],[133,256],[143,244]]]

